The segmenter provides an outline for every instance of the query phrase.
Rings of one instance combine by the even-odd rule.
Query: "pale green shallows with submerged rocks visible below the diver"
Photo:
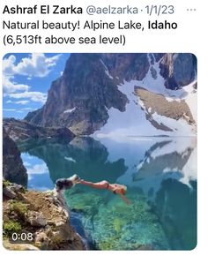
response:
[[[103,192],[66,193],[68,204],[81,212],[85,234],[99,250],[168,250],[166,234],[145,198],[129,194],[131,205]],[[108,197],[108,200],[107,200]]]

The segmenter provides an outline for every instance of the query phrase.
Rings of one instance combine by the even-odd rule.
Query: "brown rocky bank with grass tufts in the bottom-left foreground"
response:
[[[22,185],[4,180],[3,244],[6,249],[85,250],[82,238],[69,224],[69,217],[69,211],[63,209],[53,192],[28,191]],[[10,243],[13,232],[30,232],[33,241]]]

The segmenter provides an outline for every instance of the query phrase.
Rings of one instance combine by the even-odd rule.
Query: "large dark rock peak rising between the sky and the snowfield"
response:
[[[76,134],[90,134],[106,123],[107,109],[124,111],[126,102],[115,80],[107,75],[100,55],[74,54],[63,76],[52,83],[46,104],[26,120],[48,127],[71,127]]]

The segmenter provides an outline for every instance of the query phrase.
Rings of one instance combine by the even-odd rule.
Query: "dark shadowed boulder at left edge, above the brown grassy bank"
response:
[[[17,184],[27,184],[26,168],[15,142],[3,129],[3,177]]]

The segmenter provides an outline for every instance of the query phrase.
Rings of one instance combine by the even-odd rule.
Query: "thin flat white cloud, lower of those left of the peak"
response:
[[[7,95],[13,99],[28,99],[33,102],[41,102],[45,103],[47,100],[47,94],[43,94],[41,92],[23,92],[23,93],[16,93],[16,94],[8,94]]]

